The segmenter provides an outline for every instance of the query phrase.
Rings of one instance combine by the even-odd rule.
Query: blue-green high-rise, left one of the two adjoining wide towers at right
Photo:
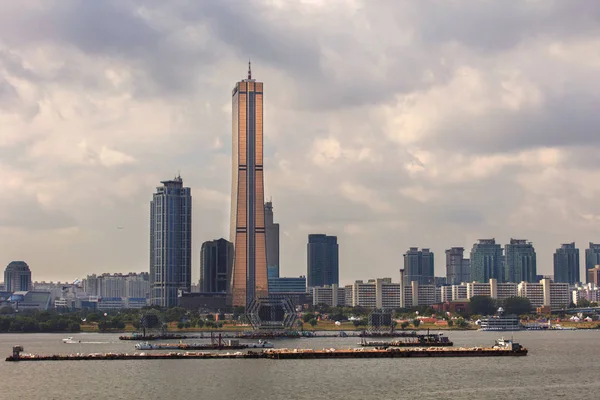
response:
[[[491,278],[504,282],[502,246],[495,239],[479,239],[471,249],[471,281],[487,283]]]

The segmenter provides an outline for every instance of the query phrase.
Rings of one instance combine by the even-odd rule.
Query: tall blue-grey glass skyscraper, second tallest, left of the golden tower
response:
[[[150,202],[150,302],[172,307],[191,290],[192,196],[180,176],[161,183]]]

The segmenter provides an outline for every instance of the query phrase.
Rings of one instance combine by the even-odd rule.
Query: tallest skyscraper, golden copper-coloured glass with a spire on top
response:
[[[263,84],[248,79],[235,84],[231,232],[235,256],[231,280],[233,306],[247,306],[269,294],[263,177]]]

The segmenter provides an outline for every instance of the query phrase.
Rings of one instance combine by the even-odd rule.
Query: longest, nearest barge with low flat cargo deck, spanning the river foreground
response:
[[[499,339],[492,347],[413,347],[413,348],[358,348],[358,349],[268,349],[264,351],[170,352],[170,353],[92,353],[67,355],[21,354],[22,346],[14,346],[6,361],[84,361],[84,360],[165,360],[165,359],[269,359],[308,360],[333,358],[407,358],[407,357],[514,357],[526,356],[525,347],[510,340]]]

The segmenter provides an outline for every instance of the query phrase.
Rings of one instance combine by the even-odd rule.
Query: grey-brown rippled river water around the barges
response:
[[[5,362],[27,353],[133,352],[117,334],[0,335],[1,399],[598,399],[599,331],[515,332],[527,357],[357,360],[124,360]],[[449,332],[488,346],[494,332]],[[199,340],[196,340],[199,341]],[[278,348],[356,347],[357,338],[275,341]]]

